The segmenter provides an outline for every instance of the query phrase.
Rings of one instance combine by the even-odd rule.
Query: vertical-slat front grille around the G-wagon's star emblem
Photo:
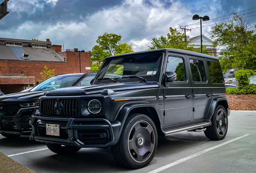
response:
[[[76,117],[78,116],[78,101],[76,99],[58,99],[63,105],[61,113],[54,112],[54,104],[57,99],[46,99],[41,101],[42,115],[51,117]]]

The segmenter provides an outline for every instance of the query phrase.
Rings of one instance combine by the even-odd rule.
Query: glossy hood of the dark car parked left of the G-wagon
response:
[[[23,93],[13,93],[8,95],[3,95],[0,97],[0,101],[31,101],[38,100],[40,96],[43,95],[45,91],[29,91]]]

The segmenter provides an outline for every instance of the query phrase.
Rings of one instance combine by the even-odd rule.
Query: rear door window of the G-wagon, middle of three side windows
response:
[[[201,60],[189,60],[194,82],[206,82],[204,63]]]

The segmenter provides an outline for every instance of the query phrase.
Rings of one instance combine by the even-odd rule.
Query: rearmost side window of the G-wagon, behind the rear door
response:
[[[208,61],[207,65],[212,82],[223,84],[223,77],[220,64],[218,62]]]

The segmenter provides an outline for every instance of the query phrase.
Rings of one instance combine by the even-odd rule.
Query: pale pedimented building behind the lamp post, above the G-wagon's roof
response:
[[[189,38],[189,42],[188,42],[188,46],[192,46],[194,44],[194,49],[198,49],[201,47],[201,42],[200,42],[201,36],[195,36],[192,38]],[[213,56],[217,56],[216,53],[216,48],[213,48],[213,40],[211,40],[210,38],[202,35],[202,45],[206,46],[206,49],[208,50],[209,53],[213,54]]]

